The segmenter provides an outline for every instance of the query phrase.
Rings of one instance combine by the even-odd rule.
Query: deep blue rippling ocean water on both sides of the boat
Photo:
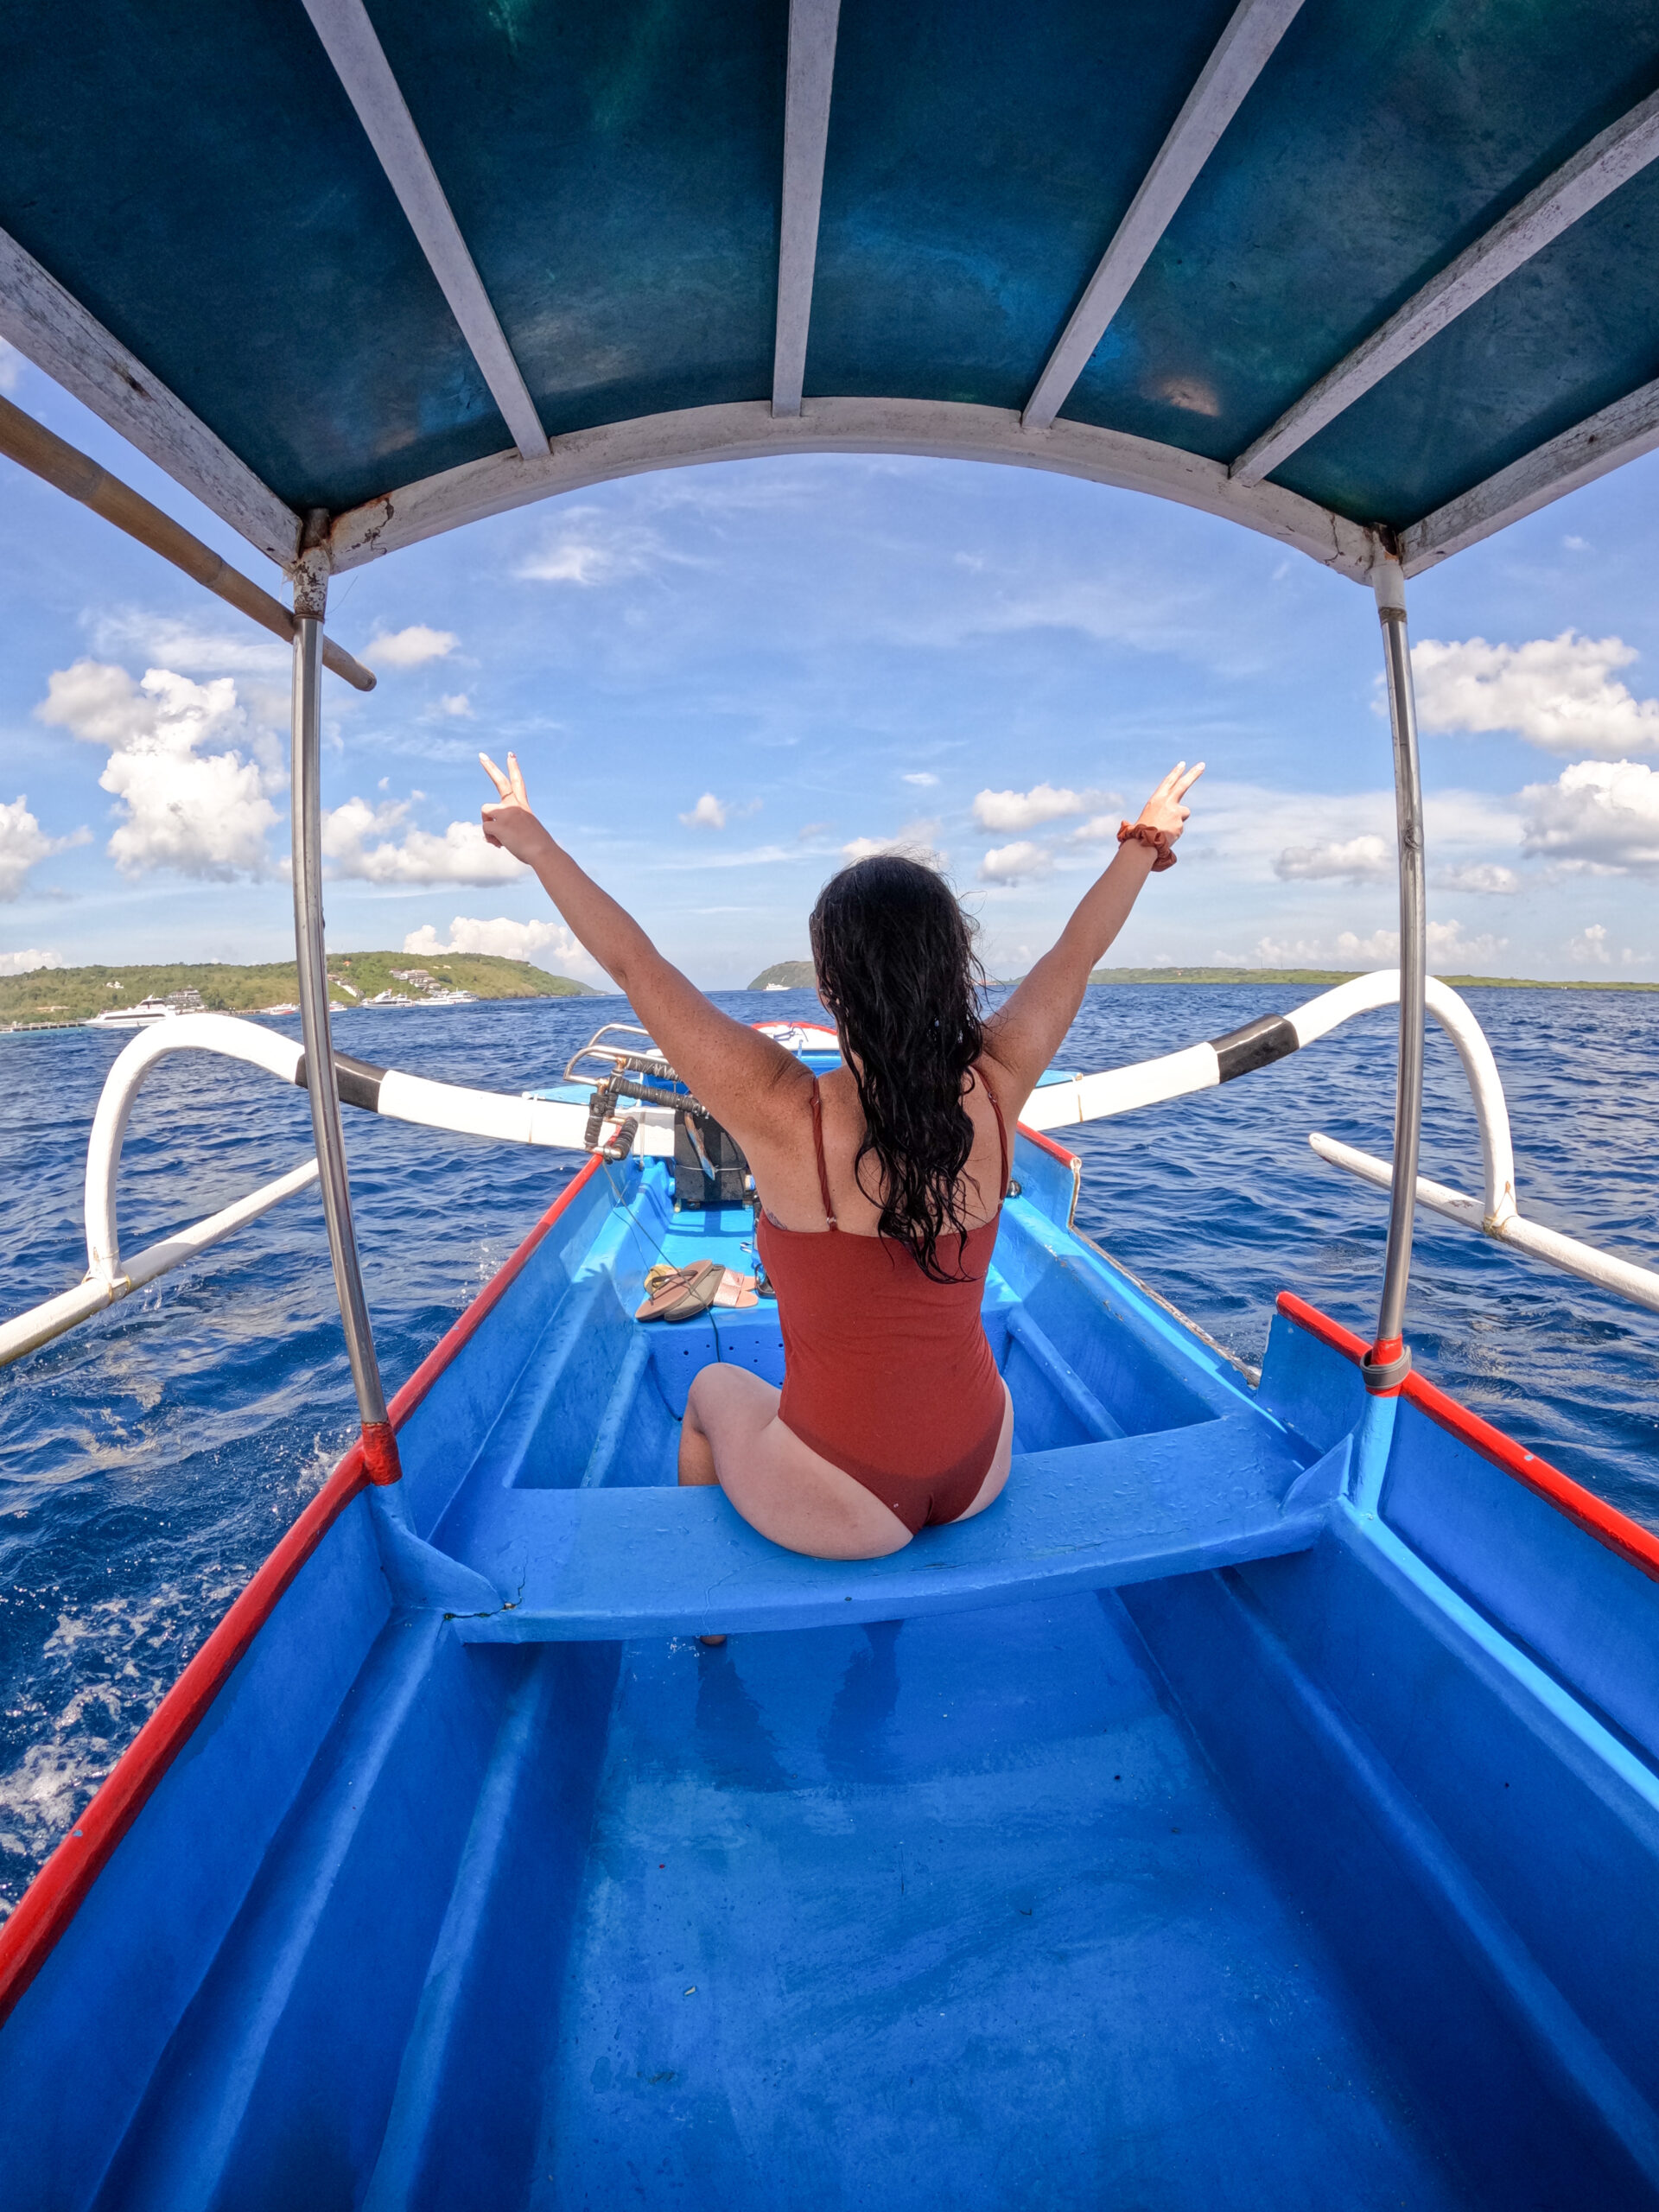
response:
[[[1285,987],[1091,991],[1060,1055],[1102,1068],[1296,1004]],[[814,1018],[810,993],[721,1000]],[[1522,1208],[1659,1265],[1659,995],[1478,991],[1509,1093]],[[615,1000],[354,1011],[338,1042],[451,1082],[546,1084]],[[296,1024],[288,1026],[296,1033]],[[84,1272],[82,1172],[119,1035],[0,1037],[0,1312]],[[1223,1091],[1068,1133],[1079,1225],[1245,1358],[1274,1294],[1369,1332],[1385,1201],[1307,1148],[1387,1155],[1394,1015]],[[577,1161],[347,1115],[358,1241],[396,1387]],[[122,1172],[122,1243],[230,1203],[310,1152],[305,1095],[181,1055],[148,1079]],[[1455,1053],[1431,1031],[1425,1172],[1480,1188]],[[1429,1214],[1418,1363],[1568,1473],[1659,1526],[1659,1316]],[[290,1199],[0,1374],[0,1913],[356,1431],[316,1192]]]

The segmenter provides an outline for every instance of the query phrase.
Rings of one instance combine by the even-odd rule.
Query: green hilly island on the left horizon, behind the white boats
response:
[[[429,982],[409,978],[429,978]],[[549,975],[529,960],[495,960],[484,953],[330,953],[330,1000],[361,1004],[378,991],[422,998],[429,991],[471,991],[473,998],[597,998],[568,975]],[[106,1006],[137,1006],[142,998],[166,998],[188,1011],[270,1013],[294,1006],[299,971],[292,960],[259,967],[230,962],[161,967],[33,969],[0,975],[0,1029],[66,1029]]]

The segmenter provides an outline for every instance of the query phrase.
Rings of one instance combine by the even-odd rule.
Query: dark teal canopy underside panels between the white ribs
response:
[[[1022,409],[1225,0],[843,0],[805,400]],[[774,374],[787,0],[369,0],[546,434]],[[1659,0],[1305,0],[1062,405],[1232,462],[1659,86]],[[0,29],[0,228],[292,509],[511,447],[301,0]],[[1659,376],[1659,164],[1272,482],[1405,529]]]

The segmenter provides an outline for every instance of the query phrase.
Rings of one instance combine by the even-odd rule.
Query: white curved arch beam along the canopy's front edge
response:
[[[380,553],[418,544],[462,522],[500,515],[511,507],[604,484],[650,469],[684,469],[706,460],[754,460],[768,453],[918,453],[940,460],[995,460],[1018,469],[1082,476],[1095,484],[1146,491],[1181,507],[1199,507],[1245,529],[1261,531],[1325,568],[1369,582],[1376,540],[1314,500],[1281,484],[1243,487],[1225,465],[1183,453],[1150,438],[1055,422],[1046,438],[1029,438],[1011,407],[969,407],[947,400],[841,398],[805,400],[799,416],[774,416],[768,400],[686,407],[677,414],[606,422],[555,438],[535,462],[495,453],[460,469],[445,469],[336,515],[330,557],[336,571],[358,568]]]

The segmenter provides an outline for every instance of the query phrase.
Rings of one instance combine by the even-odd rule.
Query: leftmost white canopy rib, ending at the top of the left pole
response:
[[[301,520],[55,276],[0,230],[0,336],[279,566]]]

